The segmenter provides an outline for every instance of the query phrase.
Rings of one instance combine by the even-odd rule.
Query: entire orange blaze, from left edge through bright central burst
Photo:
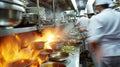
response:
[[[24,35],[26,38],[19,34],[0,38],[0,67],[24,67],[27,65],[27,67],[39,67],[48,59],[48,56],[41,58],[40,50],[32,49],[31,43],[45,42],[43,49],[52,49],[50,43],[64,40],[63,34],[58,28],[47,28],[42,31],[42,36],[34,33],[34,40],[31,39],[31,41],[29,41],[30,35],[28,37]]]

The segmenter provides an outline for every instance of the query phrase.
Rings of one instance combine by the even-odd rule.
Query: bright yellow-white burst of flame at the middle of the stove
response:
[[[45,30],[42,31],[42,35],[41,37],[36,37],[36,42],[37,41],[44,41],[45,46],[44,49],[52,49],[51,47],[51,43],[55,42],[55,41],[59,41],[59,40],[63,40],[65,39],[63,35],[65,34],[64,32],[62,32],[61,30],[59,30],[58,28],[46,28]]]

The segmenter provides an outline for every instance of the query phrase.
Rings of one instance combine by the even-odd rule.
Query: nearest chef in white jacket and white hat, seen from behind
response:
[[[120,12],[109,8],[110,4],[112,0],[96,0],[98,14],[90,19],[88,42],[97,67],[120,67]]]

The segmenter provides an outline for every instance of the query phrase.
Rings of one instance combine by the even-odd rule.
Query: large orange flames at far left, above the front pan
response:
[[[35,52],[28,47],[21,49],[20,42],[17,35],[11,35],[2,39],[2,43],[0,43],[0,67],[7,67],[7,64],[21,59],[23,59],[20,61],[21,64],[24,63],[24,59],[37,59],[39,52]],[[33,52],[35,53],[33,54]]]

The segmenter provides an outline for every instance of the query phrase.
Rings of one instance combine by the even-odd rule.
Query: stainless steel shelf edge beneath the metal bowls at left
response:
[[[37,30],[35,26],[34,27],[12,28],[12,29],[0,29],[0,36],[30,32],[30,31],[35,31],[35,30]]]

